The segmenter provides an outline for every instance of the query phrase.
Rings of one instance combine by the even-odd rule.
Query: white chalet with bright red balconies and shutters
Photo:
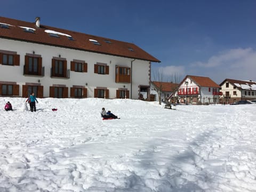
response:
[[[203,104],[219,103],[222,94],[220,86],[209,77],[187,75],[179,85],[178,96],[181,103]]]

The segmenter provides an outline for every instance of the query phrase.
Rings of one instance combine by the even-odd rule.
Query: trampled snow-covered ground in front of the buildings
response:
[[[25,101],[0,98],[1,192],[256,191],[254,104],[45,98],[32,113]]]

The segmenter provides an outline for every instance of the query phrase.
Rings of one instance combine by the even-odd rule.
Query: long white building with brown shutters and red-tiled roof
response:
[[[132,43],[0,17],[0,96],[148,99],[151,62]]]

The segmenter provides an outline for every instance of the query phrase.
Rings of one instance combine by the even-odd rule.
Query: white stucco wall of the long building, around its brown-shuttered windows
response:
[[[53,37],[54,38],[54,37]],[[90,42],[89,42],[90,43]],[[98,46],[98,45],[95,45]],[[69,87],[68,97],[70,97],[70,87],[73,85],[85,86],[88,89],[87,97],[94,97],[94,89],[98,87],[107,87],[109,89],[109,98],[116,98],[116,90],[118,88],[127,88],[131,94],[130,83],[115,83],[115,67],[121,65],[131,67],[133,59],[116,57],[99,53],[66,49],[56,46],[41,45],[36,43],[13,41],[10,39],[0,38],[0,50],[14,51],[20,55],[20,66],[0,65],[0,81],[17,82],[20,85],[20,96],[22,95],[22,85],[25,83],[38,83],[44,86],[44,97],[49,97],[50,86],[53,84],[63,84]],[[42,56],[42,66],[45,68],[45,76],[24,76],[23,66],[25,65],[26,53]],[[78,73],[70,71],[70,78],[51,78],[52,58],[59,57],[67,59],[67,69],[70,69],[70,61],[73,59],[83,60],[87,62],[87,73]],[[109,75],[94,74],[94,64],[107,63],[109,66]],[[132,71],[132,99],[138,99],[138,86],[149,86],[149,61],[135,60],[133,61]],[[131,96],[130,96],[131,98]]]

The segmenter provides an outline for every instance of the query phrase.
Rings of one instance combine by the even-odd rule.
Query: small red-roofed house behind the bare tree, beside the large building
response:
[[[169,98],[173,93],[175,93],[178,86],[178,83],[154,81],[151,83],[151,95],[154,95],[154,101],[159,101],[159,91],[161,94],[161,101],[165,101],[165,99]]]

